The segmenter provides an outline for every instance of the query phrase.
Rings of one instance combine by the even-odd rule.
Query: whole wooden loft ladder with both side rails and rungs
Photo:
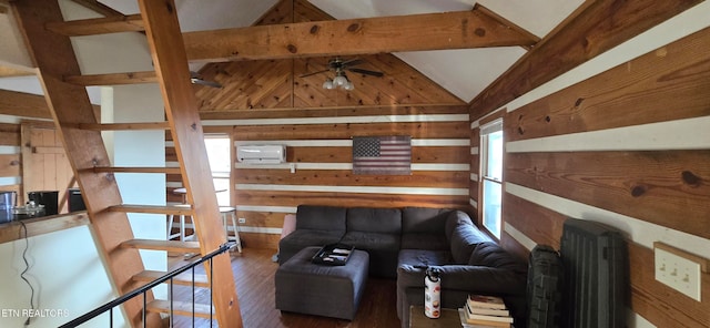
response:
[[[87,212],[99,252],[116,290],[125,294],[145,279],[162,273],[144,270],[139,249],[161,249],[206,255],[224,244],[225,236],[214,186],[210,175],[203,131],[187,59],[180,32],[174,1],[139,0],[140,16],[115,16],[95,20],[64,21],[58,0],[17,0],[18,24],[24,33],[28,51],[34,60],[38,78],[63,139],[67,156],[82,189]],[[144,30],[155,72],[129,72],[82,75],[70,37]],[[72,32],[73,31],[73,32]],[[89,84],[158,82],[165,106],[166,122],[101,124],[94,115],[85,90]],[[101,137],[106,130],[170,130],[179,168],[111,167]],[[151,206],[123,204],[114,173],[175,173],[179,170],[191,206]],[[128,213],[190,215],[194,218],[199,242],[135,239]],[[236,288],[229,256],[213,259],[206,270],[213,279],[212,300],[220,327],[242,327]],[[205,285],[197,283],[197,285]],[[148,312],[142,321],[143,300],[124,304],[133,327],[160,327],[166,301],[148,294]],[[176,305],[180,308],[180,305]],[[197,307],[200,308],[200,307]],[[211,310],[207,306],[206,310]],[[175,311],[180,312],[180,311]],[[196,314],[200,316],[200,314]]]

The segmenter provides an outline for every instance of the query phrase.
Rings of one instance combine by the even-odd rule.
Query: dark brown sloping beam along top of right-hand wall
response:
[[[702,0],[587,1],[470,103],[481,117]]]

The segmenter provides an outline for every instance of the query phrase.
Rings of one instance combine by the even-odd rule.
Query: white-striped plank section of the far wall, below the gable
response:
[[[426,206],[471,212],[469,127],[464,105],[400,107],[389,110],[387,115],[345,115],[349,111],[329,110],[328,116],[317,119],[297,117],[294,115],[304,111],[293,111],[287,116],[266,120],[203,120],[205,132],[224,133],[235,147],[286,145],[284,164],[235,163],[232,198],[239,217],[246,219],[241,225],[241,237],[247,247],[275,249],[284,216],[295,213],[300,204]],[[403,120],[410,122],[379,123]],[[412,175],[354,175],[354,135],[410,135]],[[174,153],[170,148],[168,162]],[[181,201],[171,193],[180,186],[180,176],[169,176],[170,202]]]

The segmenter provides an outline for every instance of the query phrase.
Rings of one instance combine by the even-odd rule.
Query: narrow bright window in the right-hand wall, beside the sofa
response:
[[[494,236],[500,238],[503,196],[503,120],[480,127],[480,172],[483,181],[483,221]]]

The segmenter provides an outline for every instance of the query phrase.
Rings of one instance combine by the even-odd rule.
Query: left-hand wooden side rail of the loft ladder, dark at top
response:
[[[138,249],[120,247],[124,240],[133,239],[128,215],[103,211],[122,204],[122,198],[112,174],[95,174],[91,170],[111,165],[101,132],[74,127],[75,124],[99,122],[85,88],[67,83],[63,79],[81,74],[69,37],[45,29],[47,23],[63,21],[59,3],[57,0],[32,0],[14,1],[12,6],[28,52],[37,65],[37,74],[67,157],[82,189],[98,250],[115,290],[125,294],[132,289],[132,276],[144,268]],[[152,293],[146,293],[146,299],[153,299]],[[142,299],[129,300],[123,307],[133,326],[142,324]],[[149,327],[159,327],[160,315],[149,315],[146,324]]]

